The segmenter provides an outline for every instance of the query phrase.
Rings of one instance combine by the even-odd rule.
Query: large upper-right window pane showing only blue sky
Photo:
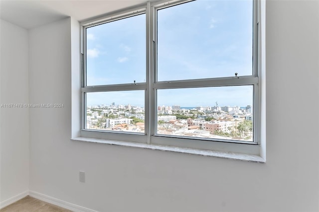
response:
[[[158,81],[252,75],[252,0],[182,3],[157,23]]]

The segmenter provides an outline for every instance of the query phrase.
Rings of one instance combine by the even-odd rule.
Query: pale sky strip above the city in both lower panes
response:
[[[158,106],[225,106],[253,105],[253,86],[229,86],[158,90]],[[144,106],[144,91],[116,91],[87,93],[87,105],[106,103]]]

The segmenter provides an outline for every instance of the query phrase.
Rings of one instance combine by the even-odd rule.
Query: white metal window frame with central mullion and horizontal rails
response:
[[[170,1],[149,1],[145,5],[134,8],[129,8],[116,13],[105,15],[102,18],[96,18],[81,23],[82,26],[82,127],[80,130],[81,137],[87,138],[101,138],[105,140],[117,140],[125,142],[140,142],[149,145],[167,145],[176,147],[186,147],[192,149],[205,149],[238,152],[245,154],[260,154],[260,91],[258,89],[260,83],[260,60],[259,47],[259,0],[254,0],[253,11],[253,74],[251,76],[239,77],[223,77],[210,79],[196,79],[196,80],[178,80],[157,82],[157,10],[185,3],[192,0],[170,0]],[[135,16],[146,13],[146,83],[137,84],[121,84],[121,85],[105,85],[105,86],[85,86],[85,29],[87,27],[116,21],[122,18]],[[220,87],[220,86],[254,86],[254,142],[245,142],[237,140],[205,140],[200,138],[190,137],[174,137],[156,134],[156,90],[157,89],[174,89],[174,88],[200,88],[200,87]],[[86,114],[85,114],[85,93],[86,92],[104,92],[104,91],[128,91],[128,90],[144,90],[145,91],[145,134],[141,133],[125,133],[125,132],[110,132],[104,130],[84,129]]]

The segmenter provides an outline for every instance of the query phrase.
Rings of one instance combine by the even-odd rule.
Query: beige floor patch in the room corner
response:
[[[45,203],[38,199],[26,196],[25,198],[8,205],[0,212],[71,212],[69,210]]]

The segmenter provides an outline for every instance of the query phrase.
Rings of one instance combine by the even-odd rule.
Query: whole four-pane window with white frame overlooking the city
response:
[[[148,2],[83,26],[84,137],[258,144],[254,0]]]

